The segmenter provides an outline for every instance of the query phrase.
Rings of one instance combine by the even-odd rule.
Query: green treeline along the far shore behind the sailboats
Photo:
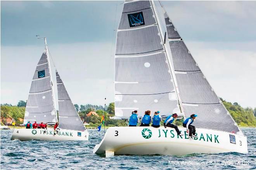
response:
[[[241,107],[237,102],[230,103],[222,98],[220,98],[225,107],[227,108],[230,115],[233,117],[235,122],[237,122],[240,126],[256,126],[256,108]],[[20,100],[17,106],[13,106],[11,104],[1,104],[1,122],[5,123],[7,118],[14,118],[17,123],[22,124],[19,118],[24,119],[26,102]],[[109,117],[114,116],[114,103],[110,103],[103,107],[102,105],[78,105],[74,104],[74,107],[78,111],[81,119],[87,123],[90,123],[90,126],[97,127],[100,125],[100,119],[102,115],[105,116],[105,125],[106,126],[127,126],[126,121],[123,120],[113,120],[109,119]],[[96,112],[99,116],[87,116],[89,112]],[[171,114],[171,113],[170,113]],[[163,124],[163,122],[161,122]],[[176,125],[182,125],[182,120],[177,120],[175,122]]]

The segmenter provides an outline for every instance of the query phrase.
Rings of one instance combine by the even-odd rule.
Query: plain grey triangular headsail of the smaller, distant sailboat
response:
[[[74,105],[67,93],[67,90],[56,70],[58,99],[59,99],[59,127],[62,129],[85,130],[85,126],[81,121]]]

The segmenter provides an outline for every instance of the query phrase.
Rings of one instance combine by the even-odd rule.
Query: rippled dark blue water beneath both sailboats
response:
[[[193,154],[186,156],[122,155],[104,158],[92,153],[98,139],[89,130],[89,141],[11,141],[12,130],[1,131],[1,170],[5,169],[256,169],[256,128],[243,128],[247,154]],[[101,136],[102,138],[102,136]],[[100,141],[100,140],[99,140]],[[169,165],[178,164],[180,165]],[[173,161],[173,162],[171,162]],[[217,162],[219,161],[219,162]],[[224,162],[236,161],[236,162]],[[192,163],[199,165],[192,165]],[[186,163],[187,165],[182,165]]]

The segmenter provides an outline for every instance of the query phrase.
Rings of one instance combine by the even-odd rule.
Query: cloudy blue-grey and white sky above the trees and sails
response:
[[[162,3],[217,95],[256,107],[256,2]],[[27,100],[44,51],[37,34],[47,37],[74,104],[104,105],[105,97],[107,104],[114,102],[114,51],[122,10],[123,1],[1,1],[0,102]]]

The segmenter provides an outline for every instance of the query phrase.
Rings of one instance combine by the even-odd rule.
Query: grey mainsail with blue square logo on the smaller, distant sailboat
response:
[[[43,53],[33,76],[24,116],[28,121],[56,122],[51,75],[47,53]]]

